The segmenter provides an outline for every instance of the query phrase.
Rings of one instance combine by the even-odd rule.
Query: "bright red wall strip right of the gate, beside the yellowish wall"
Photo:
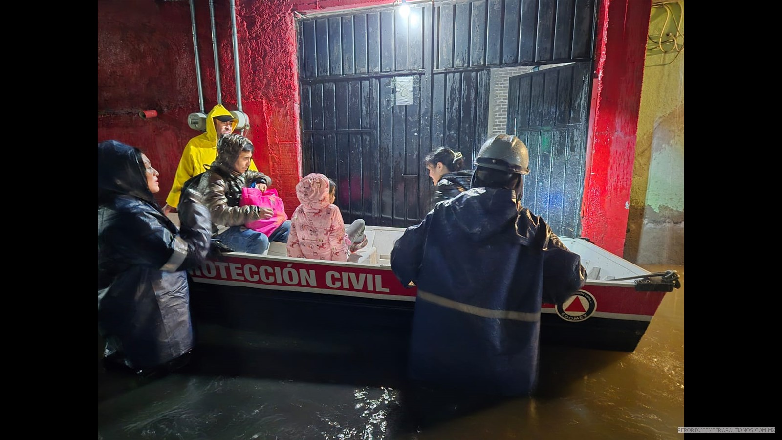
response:
[[[622,256],[651,1],[602,0],[581,235]]]

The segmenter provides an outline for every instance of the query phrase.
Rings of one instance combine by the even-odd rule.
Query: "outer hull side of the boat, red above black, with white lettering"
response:
[[[325,327],[409,334],[416,290],[402,287],[387,267],[246,256],[217,263],[224,270],[207,265],[207,270],[192,272],[196,325],[274,334],[317,333]],[[541,342],[632,352],[665,292],[638,291],[633,283],[608,284],[587,282],[561,307],[543,304]]]

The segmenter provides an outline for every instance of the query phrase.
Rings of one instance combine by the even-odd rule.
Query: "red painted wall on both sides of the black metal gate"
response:
[[[242,110],[252,128],[253,159],[275,179],[289,215],[298,205],[299,90],[293,12],[383,5],[393,0],[236,0]],[[222,103],[237,110],[231,11],[214,2]],[[601,0],[583,236],[614,254],[624,245],[630,200],[650,0]],[[208,2],[195,2],[204,108],[217,103]],[[606,27],[606,23],[608,26]],[[187,1],[99,0],[98,141],[141,147],[160,171],[163,205],[181,151],[198,135],[188,114],[200,111]],[[141,110],[159,116],[144,120]]]

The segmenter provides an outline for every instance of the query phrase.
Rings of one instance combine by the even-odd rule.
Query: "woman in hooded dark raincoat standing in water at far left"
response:
[[[98,326],[104,360],[138,373],[172,368],[193,348],[186,269],[209,250],[209,211],[198,193],[179,204],[181,229],[152,193],[158,172],[133,146],[98,144]],[[113,364],[110,362],[109,365]]]

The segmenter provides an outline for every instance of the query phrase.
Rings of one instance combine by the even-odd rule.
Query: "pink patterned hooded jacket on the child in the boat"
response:
[[[288,236],[288,256],[315,260],[347,261],[345,223],[339,207],[328,200],[328,178],[311,173],[296,184],[301,203],[293,211]]]

